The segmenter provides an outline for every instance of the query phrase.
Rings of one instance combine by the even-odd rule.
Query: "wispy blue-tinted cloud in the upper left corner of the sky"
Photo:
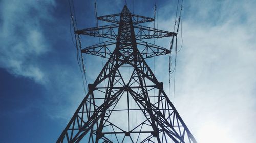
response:
[[[17,76],[45,83],[37,60],[49,50],[41,21],[51,20],[46,7],[54,1],[2,1],[0,67]]]

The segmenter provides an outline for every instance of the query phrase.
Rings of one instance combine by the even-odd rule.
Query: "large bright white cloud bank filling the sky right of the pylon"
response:
[[[198,142],[253,142],[255,2],[191,3],[184,3],[175,106]],[[168,27],[169,21],[159,26]],[[166,67],[158,63],[160,69]],[[162,79],[167,87],[167,79]]]

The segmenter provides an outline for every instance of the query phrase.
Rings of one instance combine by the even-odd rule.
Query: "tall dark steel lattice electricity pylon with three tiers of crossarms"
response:
[[[81,50],[108,61],[57,142],[196,142],[144,60],[170,50],[143,39],[177,34],[139,25],[154,19],[130,13],[126,5],[97,19],[114,24],[75,34],[111,39]]]

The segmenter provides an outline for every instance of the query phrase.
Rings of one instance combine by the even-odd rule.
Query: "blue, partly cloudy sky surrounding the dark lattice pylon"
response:
[[[133,1],[127,3],[132,12]],[[158,28],[173,30],[176,3],[157,1]],[[154,1],[135,4],[136,14],[153,17]],[[118,13],[123,5],[97,1],[98,15]],[[198,142],[256,140],[255,5],[183,2],[174,104]],[[94,1],[75,6],[78,27],[94,27]],[[84,97],[68,1],[4,0],[0,11],[0,142],[55,142]],[[166,48],[169,43],[156,40]],[[89,83],[101,68],[100,58],[86,55]],[[168,93],[168,56],[156,58],[155,68]]]

